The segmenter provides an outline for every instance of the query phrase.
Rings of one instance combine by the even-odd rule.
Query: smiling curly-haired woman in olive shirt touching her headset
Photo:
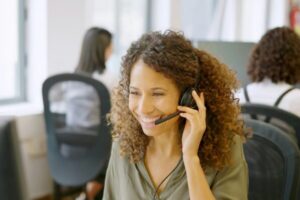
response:
[[[123,57],[103,200],[247,199],[234,73],[182,33],[150,32]]]

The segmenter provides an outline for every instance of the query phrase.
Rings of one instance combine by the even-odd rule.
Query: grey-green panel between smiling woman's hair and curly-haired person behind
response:
[[[222,63],[233,69],[237,73],[241,87],[250,83],[246,67],[255,43],[198,41],[194,42],[193,45],[196,48],[209,52]]]

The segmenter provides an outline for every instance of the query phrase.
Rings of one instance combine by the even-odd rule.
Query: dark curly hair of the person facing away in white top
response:
[[[288,27],[266,32],[253,49],[248,75],[254,82],[269,78],[272,82],[295,84],[300,77],[300,37]]]

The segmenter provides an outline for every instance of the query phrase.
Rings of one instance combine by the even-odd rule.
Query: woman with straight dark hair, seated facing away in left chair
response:
[[[92,27],[88,29],[82,42],[75,73],[99,80],[108,88],[106,81],[101,78],[106,71],[105,62],[111,54],[112,34],[103,28]],[[110,78],[114,79],[114,77]],[[67,101],[66,118],[68,125],[92,127],[99,123],[100,111],[95,108],[100,102],[98,102],[98,96],[93,88],[82,83],[69,82],[63,85],[63,93]],[[81,108],[80,111],[79,108]],[[63,152],[65,151],[63,150]]]

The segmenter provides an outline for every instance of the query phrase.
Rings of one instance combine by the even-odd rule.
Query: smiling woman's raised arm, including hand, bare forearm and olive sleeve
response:
[[[248,168],[245,161],[242,141],[239,136],[232,146],[232,162],[216,173],[213,184],[208,185],[206,176],[198,157],[198,149],[206,129],[206,109],[203,94],[193,92],[198,110],[178,107],[180,114],[186,118],[182,135],[182,153],[187,174],[189,195],[191,200],[234,199],[246,200],[248,191]],[[238,188],[238,189],[237,189]]]

